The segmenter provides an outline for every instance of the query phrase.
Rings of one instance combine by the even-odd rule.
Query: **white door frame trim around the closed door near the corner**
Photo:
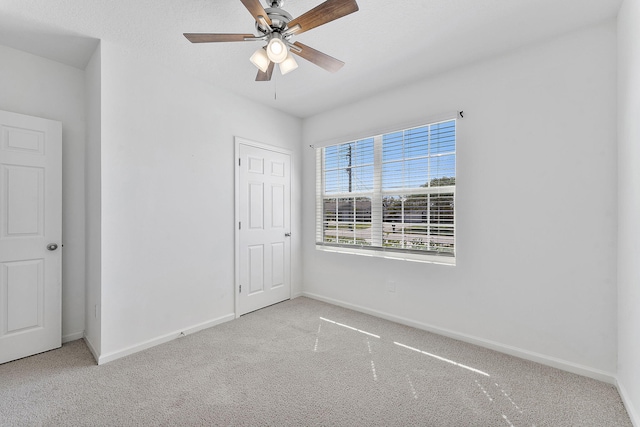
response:
[[[240,293],[240,230],[238,224],[240,223],[240,145],[248,145],[250,147],[261,148],[263,150],[273,151],[276,153],[286,154],[289,156],[289,161],[291,162],[291,170],[293,170],[293,152],[286,148],[276,147],[273,145],[263,144],[261,142],[252,141],[249,139],[242,138],[240,136],[234,137],[235,140],[235,150],[234,150],[234,170],[235,170],[235,215],[234,215],[234,235],[235,235],[235,283],[234,283],[234,310],[236,319],[240,317],[240,310],[238,308],[238,300]],[[289,175],[289,200],[291,198],[291,176]],[[291,203],[289,203],[289,218],[291,218]],[[289,255],[291,257],[291,255]],[[289,277],[291,277],[291,262],[289,262]],[[293,283],[289,286],[289,299],[293,296]]]

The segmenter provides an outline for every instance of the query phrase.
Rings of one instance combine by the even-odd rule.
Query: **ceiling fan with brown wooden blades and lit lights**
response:
[[[310,11],[293,19],[282,9],[284,0],[267,0],[271,7],[263,8],[260,0],[240,0],[256,20],[254,34],[184,33],[191,43],[265,41],[251,56],[251,62],[258,67],[256,81],[269,81],[275,64],[284,75],[298,68],[291,53],[306,59],[327,71],[335,73],[344,62],[317,51],[300,42],[291,43],[294,35],[302,34],[320,25],[358,11],[355,0],[326,0]]]

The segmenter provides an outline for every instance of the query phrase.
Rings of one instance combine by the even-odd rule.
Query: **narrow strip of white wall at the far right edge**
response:
[[[618,15],[618,384],[640,426],[640,2]]]

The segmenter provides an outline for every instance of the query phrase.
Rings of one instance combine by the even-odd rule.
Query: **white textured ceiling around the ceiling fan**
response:
[[[294,17],[320,0],[285,0]],[[240,0],[0,0],[0,44],[84,68],[98,39],[308,117],[616,16],[621,0],[358,0],[360,11],[294,37],[346,62],[255,82],[259,42],[191,44],[184,32],[251,33]],[[265,5],[266,6],[266,5]],[[277,94],[277,99],[275,95]]]

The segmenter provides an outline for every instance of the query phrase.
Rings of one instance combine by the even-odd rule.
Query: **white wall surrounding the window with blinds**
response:
[[[316,251],[305,149],[305,293],[612,381],[615,23],[307,119],[304,146],[455,110],[457,266]]]

